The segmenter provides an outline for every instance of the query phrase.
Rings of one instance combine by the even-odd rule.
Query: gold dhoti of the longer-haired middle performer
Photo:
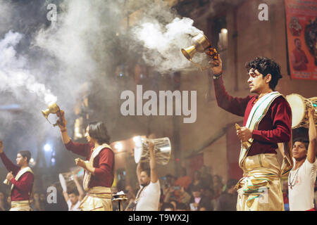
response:
[[[89,188],[79,209],[82,211],[112,211],[111,197],[111,188],[101,186]]]

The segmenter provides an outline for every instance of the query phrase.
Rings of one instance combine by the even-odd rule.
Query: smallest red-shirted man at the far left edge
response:
[[[6,176],[6,184],[11,185],[11,210],[10,211],[31,211],[30,195],[34,182],[34,174],[28,163],[31,153],[22,150],[18,153],[14,165],[4,154],[4,144],[0,140],[0,158],[9,173]]]

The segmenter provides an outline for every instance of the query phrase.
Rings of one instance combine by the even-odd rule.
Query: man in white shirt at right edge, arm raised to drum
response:
[[[309,109],[309,141],[295,139],[293,146],[294,167],[288,176],[290,211],[315,211],[313,188],[316,181],[316,126],[315,110]]]

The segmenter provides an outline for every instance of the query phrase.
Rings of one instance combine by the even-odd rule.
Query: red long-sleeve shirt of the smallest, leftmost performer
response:
[[[13,176],[16,176],[21,167],[14,165],[4,153],[0,153],[0,157],[6,169],[12,171]],[[10,182],[14,185],[11,191],[11,201],[29,200],[29,193],[32,191],[34,182],[34,175],[31,172],[25,172],[18,181],[12,178]]]

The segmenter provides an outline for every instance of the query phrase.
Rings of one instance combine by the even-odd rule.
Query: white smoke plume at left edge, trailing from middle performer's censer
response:
[[[19,89],[25,88],[46,104],[56,102],[57,97],[51,94],[44,84],[37,82],[28,70],[27,58],[17,55],[15,48],[22,38],[23,34],[9,31],[4,39],[0,40],[0,91],[11,91],[15,97],[23,99],[26,96],[19,96],[18,93]]]

